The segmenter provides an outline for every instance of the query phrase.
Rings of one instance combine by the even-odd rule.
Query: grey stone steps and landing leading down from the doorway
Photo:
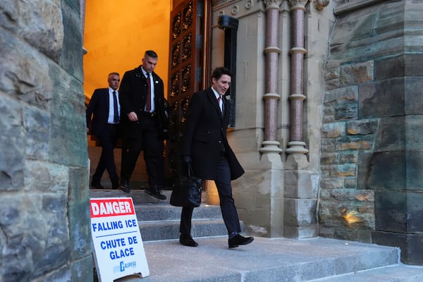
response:
[[[328,238],[259,238],[228,249],[220,207],[202,204],[192,215],[198,247],[178,243],[180,207],[144,190],[90,190],[91,197],[132,197],[149,276],[119,282],[421,282],[423,267],[401,264],[395,247]],[[95,277],[94,277],[95,278]],[[94,279],[95,281],[95,279]]]

